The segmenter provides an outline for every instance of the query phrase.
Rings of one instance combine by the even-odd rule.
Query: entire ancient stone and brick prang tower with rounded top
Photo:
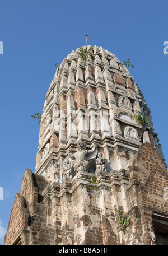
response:
[[[25,171],[4,243],[167,244],[168,175],[150,108],[114,54],[81,49],[49,86],[36,171]]]

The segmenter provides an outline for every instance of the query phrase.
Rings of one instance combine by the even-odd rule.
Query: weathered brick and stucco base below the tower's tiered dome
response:
[[[167,215],[168,176],[150,143],[142,145],[127,166],[128,177],[97,173],[98,189],[88,189],[92,173],[78,173],[62,184],[46,182],[27,169],[17,194],[5,244],[156,244],[152,214]],[[125,230],[118,210],[129,218]],[[28,224],[29,216],[33,217]]]

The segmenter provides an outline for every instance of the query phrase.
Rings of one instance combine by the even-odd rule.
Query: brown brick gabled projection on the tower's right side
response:
[[[131,222],[127,243],[156,244],[152,213],[167,215],[168,202],[164,199],[164,188],[168,186],[166,167],[150,143],[145,143],[130,163],[129,170],[127,199]],[[135,207],[136,215],[130,214]]]

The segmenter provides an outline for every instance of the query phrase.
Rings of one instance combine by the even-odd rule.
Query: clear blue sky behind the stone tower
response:
[[[102,46],[130,69],[151,109],[168,162],[167,0],[0,0],[0,244],[26,168],[35,171],[41,112],[50,82],[72,50]]]

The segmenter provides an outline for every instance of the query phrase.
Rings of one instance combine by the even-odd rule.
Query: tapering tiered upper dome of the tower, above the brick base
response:
[[[150,142],[162,159],[161,145],[153,131],[150,108],[128,69],[108,50],[83,46],[72,51],[58,67],[45,97],[40,125],[36,174],[54,181],[54,169],[63,180],[64,160],[69,164],[68,178],[76,172],[68,152],[77,151],[81,140],[87,150],[97,145],[105,169],[127,169],[127,164],[144,142]],[[136,116],[146,119],[139,124]],[[55,166],[55,167],[54,167]],[[95,161],[89,171],[95,173]]]

